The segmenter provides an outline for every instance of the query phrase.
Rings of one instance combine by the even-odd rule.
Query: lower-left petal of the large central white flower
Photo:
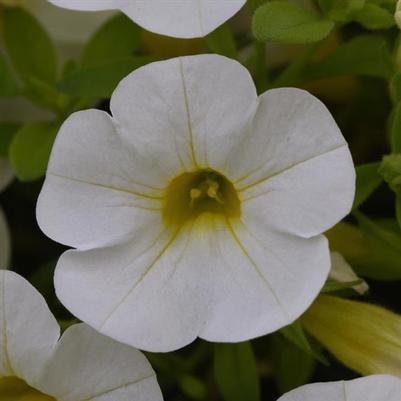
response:
[[[113,248],[67,251],[58,262],[55,287],[61,302],[101,333],[166,352],[198,335],[204,305],[212,298],[194,288],[213,277],[199,270],[203,258],[194,252],[188,229],[179,236],[170,230],[153,234],[149,230],[147,238]]]

